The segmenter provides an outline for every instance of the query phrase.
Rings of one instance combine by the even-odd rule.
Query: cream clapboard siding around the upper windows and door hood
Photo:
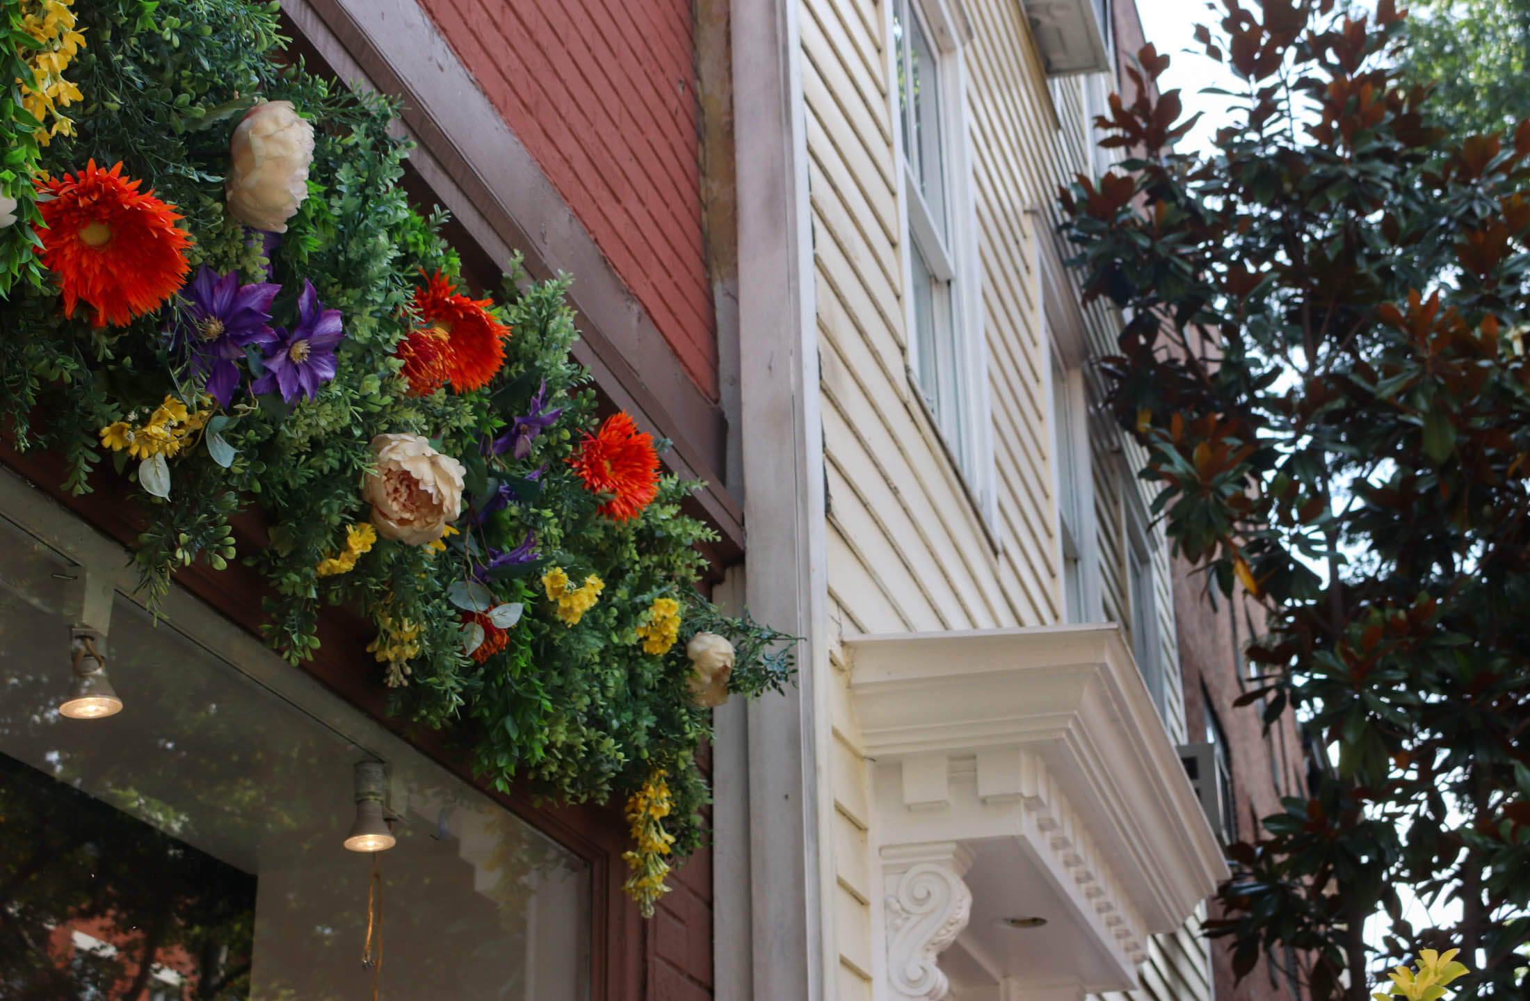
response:
[[[956,3],[956,0],[946,0]],[[961,0],[972,38],[962,49],[973,220],[993,422],[998,504],[984,523],[907,374],[894,148],[890,0],[802,0],[803,121],[808,141],[820,390],[828,489],[829,622],[837,634],[1043,625],[1060,617],[1050,371],[1036,240],[1056,225],[1056,191],[1088,170],[1079,79],[1048,84],[1016,0]],[[1118,318],[1086,310],[1089,358],[1114,353]],[[1141,484],[1121,462],[1120,432],[1088,377],[1099,526],[1100,591],[1108,619],[1129,624],[1123,506]],[[1140,451],[1126,451],[1141,462]],[[1166,558],[1158,570],[1158,634],[1177,665]],[[829,789],[832,885],[825,922],[837,960],[826,981],[838,1001],[869,1001],[878,975],[880,867],[869,773],[831,637]],[[1177,683],[1169,706],[1183,738]],[[1155,940],[1143,998],[1206,1001],[1204,946],[1183,931]]]

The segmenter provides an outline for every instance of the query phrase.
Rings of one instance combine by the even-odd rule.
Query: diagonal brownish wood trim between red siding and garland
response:
[[[722,408],[684,373],[653,321],[488,99],[480,93],[482,101],[453,99],[428,46],[401,49],[407,61],[390,63],[344,0],[283,0],[283,11],[332,75],[349,76],[344,67],[350,64],[370,86],[402,99],[404,125],[424,154],[413,157],[416,170],[456,209],[467,232],[480,241],[480,254],[503,260],[493,249],[502,243],[525,254],[536,278],[552,277],[565,264],[574,274],[571,300],[583,332],[575,358],[618,407],[641,414],[673,442],[666,455],[670,469],[708,483],[698,500],[705,520],[722,535],[724,559],[734,562],[744,552],[744,510],[722,478],[728,440]],[[418,12],[428,21],[424,11]],[[415,86],[431,79],[438,84],[435,95]],[[439,119],[442,107],[453,115],[451,124]],[[496,188],[483,164],[493,164],[508,180]]]

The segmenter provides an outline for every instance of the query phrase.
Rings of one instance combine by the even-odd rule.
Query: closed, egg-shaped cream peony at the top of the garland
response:
[[[286,232],[286,220],[308,197],[314,125],[291,101],[265,101],[245,112],[228,156],[228,214],[256,229]]]

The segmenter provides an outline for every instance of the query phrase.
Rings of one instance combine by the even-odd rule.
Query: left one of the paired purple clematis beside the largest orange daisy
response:
[[[239,274],[219,275],[203,264],[187,286],[176,344],[185,351],[193,371],[205,379],[203,388],[223,407],[239,388],[239,359],[251,344],[269,344],[271,300],[282,286],[260,281],[239,284]]]

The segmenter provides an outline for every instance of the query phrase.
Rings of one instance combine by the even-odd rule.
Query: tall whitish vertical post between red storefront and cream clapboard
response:
[[[750,613],[805,637],[797,686],[718,714],[715,784],[744,766],[747,801],[719,795],[719,1001],[823,1001],[832,923],[828,873],[823,422],[812,289],[799,0],[733,0],[744,437],[744,598]],[[736,732],[744,729],[742,740]],[[742,758],[742,760],[741,760]],[[737,776],[737,772],[734,772]],[[739,808],[747,816],[737,816]],[[742,825],[748,837],[736,831]],[[733,828],[730,833],[728,828]],[[745,857],[747,856],[747,857]],[[748,912],[725,886],[748,877]],[[730,914],[724,914],[724,909]],[[724,938],[722,935],[727,935]],[[748,943],[748,944],[745,944]],[[748,969],[731,958],[750,951]]]

